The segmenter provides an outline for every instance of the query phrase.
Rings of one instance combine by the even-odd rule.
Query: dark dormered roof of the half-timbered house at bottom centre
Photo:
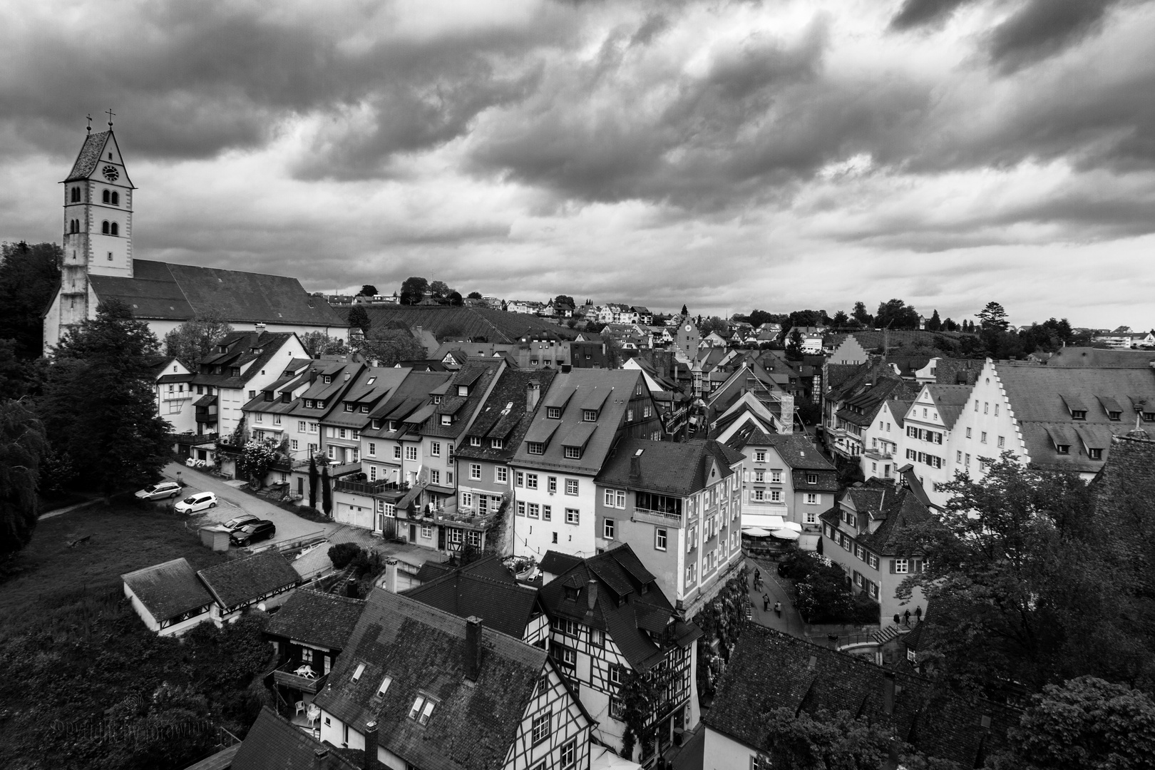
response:
[[[593,610],[591,580],[598,584]],[[578,589],[576,598],[567,598],[567,586]],[[567,618],[604,630],[631,667],[641,672],[662,660],[670,644],[685,646],[702,634],[678,618],[628,544],[574,565],[543,585],[541,597],[551,618]]]

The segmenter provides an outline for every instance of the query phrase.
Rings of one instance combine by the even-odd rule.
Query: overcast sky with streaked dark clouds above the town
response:
[[[1155,326],[1155,3],[0,5],[0,240],[84,115],[137,257],[702,313]]]

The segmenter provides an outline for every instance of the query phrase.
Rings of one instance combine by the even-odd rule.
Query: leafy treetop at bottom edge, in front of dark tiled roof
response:
[[[813,716],[793,709],[773,709],[762,715],[769,725],[767,767],[795,770],[877,770],[889,757],[892,733],[887,725],[871,724],[849,711],[820,709]],[[761,767],[761,765],[759,765]]]

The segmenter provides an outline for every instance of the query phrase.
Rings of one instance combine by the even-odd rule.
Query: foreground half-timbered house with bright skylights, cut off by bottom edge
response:
[[[587,770],[593,719],[545,650],[378,589],[314,703],[387,768]]]

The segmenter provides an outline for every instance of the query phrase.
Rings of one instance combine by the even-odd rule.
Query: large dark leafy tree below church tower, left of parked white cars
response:
[[[156,413],[156,336],[120,300],[69,331],[53,353],[38,404],[49,441],[67,453],[80,481],[112,493],[161,477],[170,425]]]

